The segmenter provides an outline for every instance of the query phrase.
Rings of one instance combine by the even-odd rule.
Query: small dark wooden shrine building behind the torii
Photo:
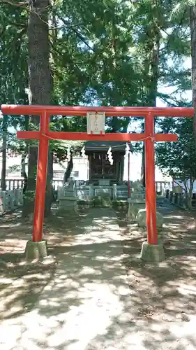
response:
[[[100,179],[110,180],[111,184],[123,181],[125,142],[87,141],[84,146],[89,159],[89,183],[96,185]],[[110,164],[107,156],[110,147],[113,165]]]

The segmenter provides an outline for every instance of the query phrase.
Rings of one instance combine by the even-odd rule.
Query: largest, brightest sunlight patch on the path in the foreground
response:
[[[112,284],[108,286],[104,283],[84,283],[78,289],[80,305],[73,305],[66,314],[59,311],[56,316],[46,318],[40,316],[38,310],[32,311],[31,316],[23,318],[23,322],[26,326],[33,326],[33,335],[29,339],[29,332],[24,332],[22,346],[28,345],[31,349],[38,350],[37,346],[33,346],[34,340],[38,343],[44,341],[45,349],[54,349],[64,344],[66,338],[65,349],[86,349],[93,338],[107,334],[113,318],[120,317],[119,322],[125,319],[122,317],[123,302],[119,300],[119,292],[126,295],[126,290],[116,290],[116,286]],[[67,296],[66,294],[66,298]],[[49,301],[50,307],[58,306],[58,298],[45,302],[43,300],[43,304],[48,304]],[[116,336],[123,336],[123,329],[117,328]]]

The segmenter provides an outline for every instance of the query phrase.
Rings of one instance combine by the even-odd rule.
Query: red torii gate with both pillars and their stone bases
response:
[[[47,255],[47,243],[43,240],[43,220],[45,209],[45,188],[47,177],[47,154],[50,139],[93,140],[93,141],[144,141],[146,161],[146,228],[147,242],[142,246],[141,258],[147,262],[165,259],[163,246],[158,244],[156,228],[156,190],[155,190],[155,141],[176,141],[174,134],[155,134],[155,116],[193,117],[193,109],[158,107],[81,107],[81,106],[15,106],[2,105],[4,114],[40,116],[40,131],[17,132],[19,139],[38,139],[38,170],[36,181],[36,200],[32,240],[26,247],[27,259],[42,258]],[[91,135],[85,132],[52,132],[50,116],[86,116],[87,112],[105,112],[106,116],[134,116],[145,118],[143,134],[102,134]]]

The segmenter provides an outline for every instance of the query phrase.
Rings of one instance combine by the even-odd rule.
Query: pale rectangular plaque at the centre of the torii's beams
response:
[[[87,134],[105,134],[105,112],[89,112],[87,118]]]

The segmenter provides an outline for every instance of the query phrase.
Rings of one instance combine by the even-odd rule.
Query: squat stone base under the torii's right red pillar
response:
[[[142,244],[142,251],[140,258],[146,262],[161,262],[165,260],[164,248],[161,244],[149,244],[144,242]]]

